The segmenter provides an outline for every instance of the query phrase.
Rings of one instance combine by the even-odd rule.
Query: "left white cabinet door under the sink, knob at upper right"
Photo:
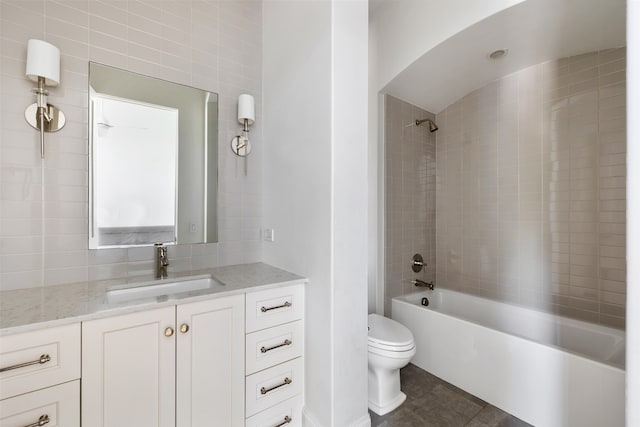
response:
[[[82,425],[175,426],[175,307],[82,324]]]

